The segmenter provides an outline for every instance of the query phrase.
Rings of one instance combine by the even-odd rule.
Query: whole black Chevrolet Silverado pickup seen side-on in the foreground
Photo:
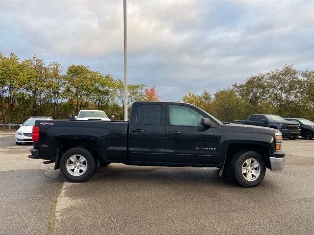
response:
[[[99,165],[229,169],[243,187],[259,185],[266,172],[285,165],[279,130],[221,122],[194,105],[134,102],[130,122],[36,120],[29,158],[49,160],[65,179],[82,182]]]

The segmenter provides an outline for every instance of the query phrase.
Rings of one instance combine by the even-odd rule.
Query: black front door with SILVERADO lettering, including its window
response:
[[[201,125],[205,115],[193,106],[166,104],[166,163],[216,164],[219,130]],[[205,117],[208,118],[208,117]]]

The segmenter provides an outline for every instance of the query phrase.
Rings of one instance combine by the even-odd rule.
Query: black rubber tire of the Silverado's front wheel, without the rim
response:
[[[252,179],[252,181],[249,181],[245,178],[244,174],[246,172],[244,174],[242,173],[242,166],[249,159],[254,159],[259,163],[259,168],[256,168],[257,170],[259,170],[259,175],[255,179]],[[245,166],[245,167],[247,167],[247,166]],[[249,171],[252,173],[250,167],[248,167],[247,169],[249,169]],[[254,171],[255,171],[255,169],[254,169]],[[240,151],[240,152],[235,153],[235,155],[233,156],[233,158],[230,162],[229,172],[230,172],[230,177],[236,183],[238,183],[239,185],[241,185],[244,188],[251,188],[251,187],[256,187],[262,183],[262,181],[265,177],[266,167],[265,167],[264,160],[259,153],[255,152],[255,151]],[[248,174],[251,174],[250,172]],[[255,177],[254,173],[251,174],[251,177],[252,177],[252,175],[254,178]]]

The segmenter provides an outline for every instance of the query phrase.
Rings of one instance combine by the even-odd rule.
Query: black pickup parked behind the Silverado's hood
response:
[[[265,126],[280,130],[283,137],[295,140],[300,135],[300,124],[287,121],[278,115],[271,114],[251,114],[247,120],[234,120],[237,124],[246,124],[254,126]]]

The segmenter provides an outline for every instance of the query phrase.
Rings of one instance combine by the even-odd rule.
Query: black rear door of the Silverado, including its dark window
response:
[[[129,130],[129,161],[164,162],[165,104],[140,102],[133,109]]]

